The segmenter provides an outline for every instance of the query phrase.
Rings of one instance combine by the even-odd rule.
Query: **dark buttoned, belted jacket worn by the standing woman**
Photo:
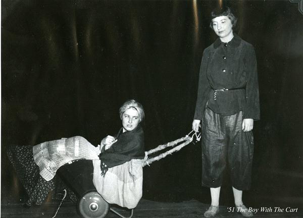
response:
[[[215,91],[224,88],[232,90]],[[203,52],[195,120],[202,120],[207,102],[217,114],[232,115],[243,111],[243,119],[260,119],[255,49],[236,34],[228,43],[218,38]]]

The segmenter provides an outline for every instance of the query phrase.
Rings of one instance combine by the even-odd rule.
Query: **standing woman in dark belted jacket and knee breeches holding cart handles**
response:
[[[251,183],[254,149],[252,128],[260,119],[257,61],[254,47],[233,32],[237,19],[230,8],[211,13],[211,28],[219,38],[203,52],[192,129],[202,133],[202,185],[210,187],[212,203],[204,213],[219,212],[220,188],[229,167],[236,211],[243,205],[242,190]]]

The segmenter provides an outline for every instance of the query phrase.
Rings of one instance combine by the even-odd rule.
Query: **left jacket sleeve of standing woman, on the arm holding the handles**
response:
[[[194,120],[202,120],[205,105],[208,100],[209,92],[211,90],[211,86],[206,76],[209,58],[209,52],[207,52],[207,50],[204,50],[200,65],[197,100],[193,118]]]

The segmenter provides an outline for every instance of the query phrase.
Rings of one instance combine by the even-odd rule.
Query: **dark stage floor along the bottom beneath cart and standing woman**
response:
[[[60,204],[60,201],[54,203],[44,203],[43,205],[37,207],[32,206],[30,208],[24,208],[22,203],[10,203],[10,204],[2,204],[1,205],[1,217],[3,218],[26,218],[26,217],[53,217],[56,213],[56,210]],[[208,208],[209,205],[201,203],[197,200],[189,200],[184,202],[156,202],[141,199],[137,207],[134,209],[133,217],[182,217],[182,218],[190,218],[190,217],[204,217],[203,214]],[[286,207],[284,208],[284,212],[260,212],[260,208],[257,213],[255,213],[254,217],[275,217],[275,218],[299,218],[303,217],[303,211],[294,212],[285,212]],[[294,209],[294,208],[293,208]],[[118,211],[123,215],[128,216],[128,211],[124,212],[122,209],[118,208]],[[76,212],[76,204],[71,202],[63,202],[61,205],[57,215],[57,218],[78,218],[80,215]],[[113,212],[109,211],[108,218],[111,217],[119,217]],[[228,212],[227,206],[220,206],[220,212],[216,217],[243,217],[239,213],[236,212]]]

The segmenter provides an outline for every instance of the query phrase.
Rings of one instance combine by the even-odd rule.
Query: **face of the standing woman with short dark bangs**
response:
[[[220,38],[228,38],[233,35],[232,23],[227,16],[216,17],[212,20],[212,25],[215,33]]]

